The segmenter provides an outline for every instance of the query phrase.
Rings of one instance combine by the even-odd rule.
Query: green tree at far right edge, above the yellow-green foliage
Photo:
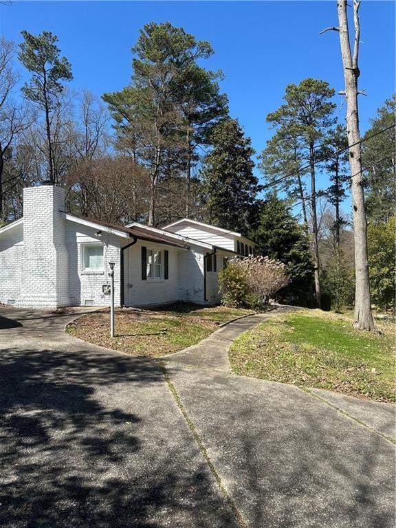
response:
[[[395,111],[396,94],[378,110],[363,139],[395,124]],[[374,223],[386,222],[395,211],[395,129],[364,140],[362,157],[364,168],[369,168],[364,179],[367,219]]]

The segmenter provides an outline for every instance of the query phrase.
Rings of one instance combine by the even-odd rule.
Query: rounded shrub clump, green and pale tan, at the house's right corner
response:
[[[258,308],[289,283],[285,264],[267,256],[232,259],[219,273],[223,304]]]

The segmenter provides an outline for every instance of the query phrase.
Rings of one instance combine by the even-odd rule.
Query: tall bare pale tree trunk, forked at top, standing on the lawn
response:
[[[349,144],[349,166],[351,168],[351,191],[353,206],[353,228],[355,237],[355,321],[360,330],[375,329],[371,313],[369,259],[367,253],[367,221],[362,185],[362,157],[360,154],[360,131],[358,114],[358,67],[359,57],[359,0],[353,0],[353,22],[355,42],[353,56],[349,41],[347,0],[338,0],[338,21],[340,24],[340,45],[344,69],[345,92],[347,95],[347,133]]]

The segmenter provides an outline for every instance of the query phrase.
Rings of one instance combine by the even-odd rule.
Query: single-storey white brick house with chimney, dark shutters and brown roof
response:
[[[19,307],[115,303],[218,303],[217,274],[226,259],[249,254],[241,234],[189,219],[163,229],[76,217],[56,186],[26,188],[23,218],[0,228],[0,303]]]

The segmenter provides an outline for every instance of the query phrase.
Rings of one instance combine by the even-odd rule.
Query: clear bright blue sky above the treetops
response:
[[[369,118],[395,91],[395,3],[362,1],[360,8],[360,122]],[[288,83],[306,77],[327,80],[344,89],[340,44],[333,1],[19,1],[0,5],[0,30],[19,43],[21,30],[58,36],[62,54],[72,63],[70,87],[99,96],[122,89],[131,76],[131,47],[150,21],[170,21],[197,39],[208,40],[214,55],[204,61],[222,69],[221,89],[230,113],[252,137],[259,153],[271,137],[265,117],[282,104]],[[341,96],[335,102],[340,105]],[[340,111],[344,119],[344,108]]]

